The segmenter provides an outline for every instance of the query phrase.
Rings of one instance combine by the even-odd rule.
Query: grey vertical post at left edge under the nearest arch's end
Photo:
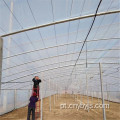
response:
[[[0,37],[0,90],[2,79],[2,56],[3,56],[3,39]]]

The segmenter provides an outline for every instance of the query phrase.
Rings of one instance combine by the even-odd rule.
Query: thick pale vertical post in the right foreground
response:
[[[103,120],[106,120],[106,113],[105,113],[105,106],[104,106],[103,78],[102,78],[101,63],[99,63],[99,69],[100,69],[100,82],[101,82],[101,97],[102,97],[102,105],[103,105]]]

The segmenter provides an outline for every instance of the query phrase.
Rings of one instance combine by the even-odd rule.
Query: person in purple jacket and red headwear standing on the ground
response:
[[[30,97],[30,103],[28,105],[28,115],[27,120],[30,120],[30,115],[32,112],[32,120],[35,120],[35,104],[38,101],[36,92],[33,93],[33,95]]]

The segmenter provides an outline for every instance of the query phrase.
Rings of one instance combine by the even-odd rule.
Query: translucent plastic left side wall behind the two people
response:
[[[29,103],[31,90],[1,90],[0,91],[0,115],[14,109],[25,107]],[[40,98],[56,94],[55,91],[40,91]]]

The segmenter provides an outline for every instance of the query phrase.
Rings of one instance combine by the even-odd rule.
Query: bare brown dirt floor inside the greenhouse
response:
[[[87,96],[80,95],[54,95],[51,96],[51,111],[50,111],[50,97],[43,99],[43,120],[102,120],[103,113],[102,108],[82,108],[73,105],[80,103],[87,104]],[[101,100],[97,98],[89,97],[89,104],[95,106],[100,104]],[[66,104],[66,107],[62,104]],[[106,108],[107,120],[120,120],[120,104],[114,102],[105,101],[105,104],[109,104],[109,108]],[[69,106],[72,105],[72,106]],[[72,107],[72,108],[68,108]],[[20,108],[0,116],[0,120],[26,120],[27,119],[27,107]]]

